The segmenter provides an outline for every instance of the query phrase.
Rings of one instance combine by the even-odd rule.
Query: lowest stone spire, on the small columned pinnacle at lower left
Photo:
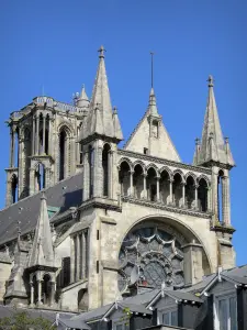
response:
[[[45,194],[41,197],[41,209],[30,253],[29,267],[54,266],[53,240]]]

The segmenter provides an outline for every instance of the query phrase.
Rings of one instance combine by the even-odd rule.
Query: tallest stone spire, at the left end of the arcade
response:
[[[82,141],[93,134],[105,135],[122,140],[122,130],[116,112],[112,112],[108,77],[104,64],[104,47],[99,50],[100,61],[92,90],[89,114],[85,120],[79,140]]]

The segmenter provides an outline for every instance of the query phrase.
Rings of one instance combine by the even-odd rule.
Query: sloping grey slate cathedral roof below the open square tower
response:
[[[70,207],[77,207],[81,204],[81,187],[82,175],[78,173],[43,190],[47,197],[47,205],[59,208],[53,221],[56,217],[68,211]],[[0,245],[16,239],[18,220],[21,221],[22,234],[35,229],[40,213],[41,196],[42,191],[26,197],[0,211]]]

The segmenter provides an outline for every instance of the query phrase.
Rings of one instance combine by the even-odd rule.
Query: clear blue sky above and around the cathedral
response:
[[[147,107],[149,51],[155,91],[172,141],[191,163],[201,136],[207,76],[223,132],[237,167],[232,170],[232,221],[237,264],[247,263],[247,1],[1,0],[0,206],[9,163],[9,113],[42,94],[60,101],[86,84],[90,96],[101,44],[112,103],[125,139]]]

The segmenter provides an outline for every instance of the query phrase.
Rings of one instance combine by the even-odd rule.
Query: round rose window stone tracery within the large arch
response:
[[[126,292],[138,270],[138,284],[160,288],[183,286],[183,252],[172,233],[157,227],[139,228],[124,239],[119,255],[119,288]]]

